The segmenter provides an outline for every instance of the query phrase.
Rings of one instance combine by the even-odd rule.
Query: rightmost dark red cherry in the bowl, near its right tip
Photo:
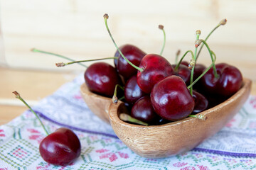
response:
[[[242,86],[242,74],[238,68],[226,64],[215,64],[218,78],[214,77],[213,67],[201,79],[201,86],[206,94],[229,97]]]

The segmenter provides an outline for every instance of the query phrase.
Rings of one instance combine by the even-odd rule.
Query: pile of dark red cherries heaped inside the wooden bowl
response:
[[[106,27],[107,18],[105,14]],[[197,30],[198,38],[200,34],[201,31]],[[195,47],[201,42],[208,47],[206,41],[199,39]],[[114,45],[117,47],[115,42]],[[91,64],[85,71],[85,83],[96,94],[113,96],[114,103],[118,94],[132,118],[149,125],[169,123],[188,116],[202,118],[195,114],[222,103],[242,86],[239,69],[226,63],[215,64],[215,54],[210,47],[208,50],[213,62],[210,67],[196,63],[198,56],[193,56],[188,63],[182,61],[183,55],[180,62],[170,64],[161,55],[146,54],[134,45],[123,45],[117,47],[114,54],[117,57],[114,59],[115,67],[105,62]]]

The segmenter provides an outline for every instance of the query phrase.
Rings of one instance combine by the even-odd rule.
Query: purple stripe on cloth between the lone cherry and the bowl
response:
[[[113,137],[113,138],[119,139],[116,135],[111,135],[111,134],[108,134],[108,133],[105,133],[105,132],[97,132],[97,131],[93,131],[93,130],[85,130],[85,129],[82,129],[82,128],[76,128],[74,126],[66,125],[66,124],[63,124],[63,123],[58,123],[57,121],[55,121],[55,120],[53,120],[51,118],[48,118],[46,115],[44,115],[43,113],[41,113],[39,111],[35,111],[35,112],[41,118],[43,118],[45,120],[48,120],[48,121],[50,121],[52,123],[55,123],[56,125],[61,125],[61,126],[64,126],[66,128],[70,128],[70,129],[73,129],[73,130],[78,130],[78,131],[81,131],[81,132],[87,132],[87,133],[95,134],[95,135],[104,135],[104,136],[107,136],[107,137]]]

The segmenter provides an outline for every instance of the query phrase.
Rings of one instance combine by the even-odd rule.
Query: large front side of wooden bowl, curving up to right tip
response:
[[[252,82],[244,79],[242,88],[227,101],[203,111],[207,120],[185,118],[164,125],[132,125],[119,119],[126,113],[124,103],[110,104],[110,123],[117,137],[142,157],[160,158],[181,154],[193,149],[214,135],[238,113],[250,95]]]

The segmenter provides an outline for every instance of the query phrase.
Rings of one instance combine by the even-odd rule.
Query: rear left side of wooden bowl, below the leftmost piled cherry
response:
[[[89,91],[85,83],[80,86],[80,92],[82,94],[82,98],[92,113],[95,113],[95,115],[106,123],[110,123],[108,111],[110,108],[110,103],[112,103],[112,98],[92,93]]]

